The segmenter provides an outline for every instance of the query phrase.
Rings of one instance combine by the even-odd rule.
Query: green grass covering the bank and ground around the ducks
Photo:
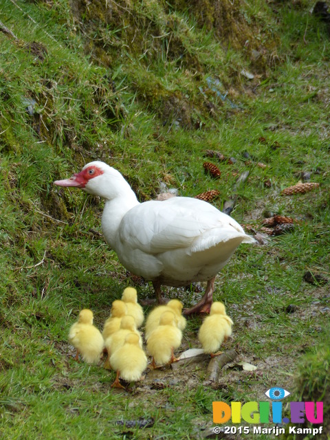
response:
[[[308,13],[309,1],[276,4],[277,12],[242,2],[221,39],[221,17],[212,22],[206,0],[203,15],[195,3],[131,3],[113,3],[111,15],[98,1],[72,11],[67,0],[17,3],[21,9],[0,0],[0,21],[17,36],[0,32],[4,439],[199,439],[213,426],[214,400],[262,401],[274,385],[298,399],[329,393],[327,286],[303,281],[306,270],[329,277],[325,26]],[[34,115],[25,99],[36,101]],[[207,149],[236,159],[210,159],[218,181],[204,173]],[[218,189],[219,209],[249,170],[232,216],[259,232],[272,213],[296,219],[292,232],[266,237],[266,245],[242,245],[217,278],[214,297],[235,323],[226,348],[256,372],[226,369],[213,389],[203,386],[206,365],[168,369],[118,393],[113,372],[72,359],[67,333],[79,310],[93,309],[101,328],[133,282],[100,235],[103,202],[52,184],[94,159],[118,168],[141,201],[163,184],[190,197]],[[320,187],[281,195],[303,171]],[[151,296],[150,286],[137,288]],[[200,296],[169,292],[186,305]],[[196,346],[200,323],[189,320],[187,347]],[[116,423],[140,417],[153,418],[153,427]]]

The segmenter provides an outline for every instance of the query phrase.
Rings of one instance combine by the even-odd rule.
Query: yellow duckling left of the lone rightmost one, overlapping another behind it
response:
[[[157,368],[175,362],[174,350],[181,344],[182,332],[175,323],[173,311],[164,311],[160,316],[159,325],[151,332],[146,342],[148,353],[153,357],[151,366]]]

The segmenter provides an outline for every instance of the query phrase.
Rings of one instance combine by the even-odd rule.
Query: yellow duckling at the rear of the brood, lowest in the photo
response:
[[[140,347],[139,336],[136,333],[129,333],[124,344],[115,351],[110,358],[110,363],[117,375],[112,386],[124,388],[119,382],[119,377],[127,382],[140,380],[142,372],[146,369],[146,353]]]

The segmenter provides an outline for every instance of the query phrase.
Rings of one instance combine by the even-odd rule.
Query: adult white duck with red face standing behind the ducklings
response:
[[[102,232],[127,270],[153,282],[158,303],[161,285],[207,281],[203,298],[186,314],[210,311],[217,273],[240,243],[254,243],[227,214],[206,201],[172,197],[140,203],[118,170],[90,162],[58,186],[74,186],[105,199]]]

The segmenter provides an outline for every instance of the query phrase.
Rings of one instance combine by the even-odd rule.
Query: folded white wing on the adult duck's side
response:
[[[237,223],[210,203],[189,197],[173,197],[166,201],[148,201],[135,206],[122,220],[120,241],[143,252],[159,254],[188,248],[208,231],[218,232],[218,242],[228,241],[231,233],[245,236]]]

